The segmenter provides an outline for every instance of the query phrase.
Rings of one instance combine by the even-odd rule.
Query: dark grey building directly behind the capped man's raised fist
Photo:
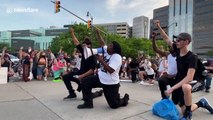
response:
[[[153,31],[157,31],[156,26],[154,25],[154,20],[160,20],[160,24],[164,31],[168,33],[169,23],[169,6],[164,6],[161,8],[154,9],[153,11],[153,19],[150,20],[150,35]],[[156,39],[162,39],[162,36],[158,35]]]

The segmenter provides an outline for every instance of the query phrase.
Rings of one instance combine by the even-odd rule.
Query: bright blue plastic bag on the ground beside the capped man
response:
[[[164,99],[155,103],[152,112],[166,120],[179,120],[179,111],[170,99]]]

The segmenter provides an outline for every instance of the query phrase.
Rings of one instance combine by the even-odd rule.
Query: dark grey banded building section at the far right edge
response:
[[[193,51],[206,56],[213,50],[213,0],[194,0],[193,7]]]

